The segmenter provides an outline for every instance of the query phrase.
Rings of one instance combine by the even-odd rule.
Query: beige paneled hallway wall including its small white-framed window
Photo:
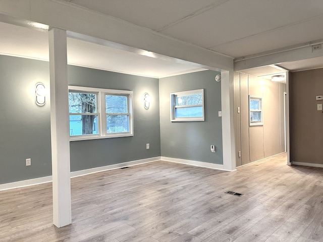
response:
[[[287,152],[286,94],[286,82],[234,73],[237,167]]]

